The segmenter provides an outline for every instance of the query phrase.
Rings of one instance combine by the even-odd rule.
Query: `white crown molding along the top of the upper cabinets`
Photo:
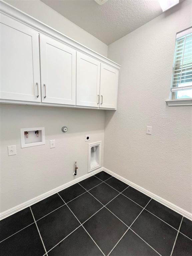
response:
[[[109,60],[108,58],[102,56],[101,54],[91,50],[90,48],[78,43],[77,41],[71,39],[70,37],[60,33],[59,31],[49,27],[48,25],[44,24],[43,22],[33,18],[32,16],[20,11],[19,9],[13,7],[12,5],[0,0],[0,13],[3,13],[7,16],[10,16],[11,18],[14,18],[33,29],[37,30],[39,33],[46,34],[48,36],[51,36],[73,48],[75,48],[78,51],[81,51],[87,55],[90,55],[91,57],[110,65],[111,67],[116,68],[117,70],[120,69],[120,65],[115,63],[112,60]]]

